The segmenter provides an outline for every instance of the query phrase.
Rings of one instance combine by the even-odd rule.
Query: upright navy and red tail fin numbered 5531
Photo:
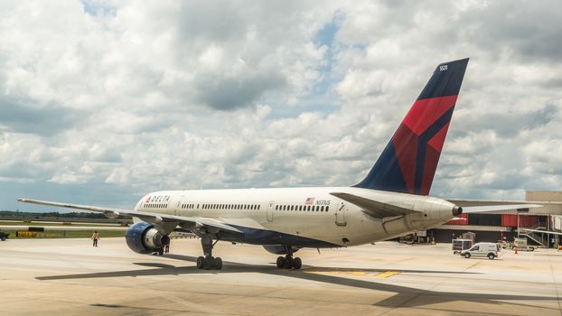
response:
[[[353,187],[427,195],[468,59],[439,64],[367,177]]]

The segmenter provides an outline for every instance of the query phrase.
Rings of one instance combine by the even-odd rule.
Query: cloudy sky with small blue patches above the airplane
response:
[[[470,58],[431,195],[562,188],[557,1],[2,1],[0,209],[348,186]]]

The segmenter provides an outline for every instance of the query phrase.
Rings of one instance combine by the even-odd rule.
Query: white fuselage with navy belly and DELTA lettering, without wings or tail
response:
[[[358,206],[331,195],[346,192],[417,210],[373,218]],[[353,187],[157,191],[145,195],[136,211],[189,218],[215,218],[246,237],[223,240],[258,245],[356,246],[435,228],[453,218],[454,204],[428,196]]]

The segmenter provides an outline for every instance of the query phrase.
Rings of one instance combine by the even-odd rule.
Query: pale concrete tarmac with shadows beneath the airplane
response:
[[[302,249],[279,270],[261,246],[218,243],[220,271],[195,267],[199,239],[138,255],[123,238],[0,242],[3,315],[562,315],[562,252],[495,260],[450,245]]]

